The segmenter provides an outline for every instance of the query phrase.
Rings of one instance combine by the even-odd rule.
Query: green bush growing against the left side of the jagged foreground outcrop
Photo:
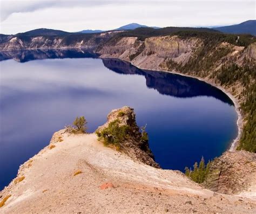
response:
[[[109,123],[108,127],[103,128],[100,131],[96,131],[98,140],[103,140],[105,146],[113,145],[120,146],[120,143],[124,142],[130,133],[130,127],[127,125],[120,125],[120,121],[114,120]]]

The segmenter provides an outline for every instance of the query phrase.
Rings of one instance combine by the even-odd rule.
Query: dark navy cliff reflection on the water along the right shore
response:
[[[184,77],[178,74],[156,71],[144,71],[130,63],[118,59],[103,59],[103,64],[110,70],[120,74],[139,74],[146,78],[149,88],[157,89],[160,94],[189,98],[192,96],[213,96],[223,102],[233,105],[233,102],[220,89],[195,78]]]

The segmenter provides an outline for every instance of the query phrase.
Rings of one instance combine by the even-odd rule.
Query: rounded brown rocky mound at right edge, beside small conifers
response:
[[[204,186],[224,194],[237,194],[248,189],[256,177],[256,154],[227,151],[210,165]]]

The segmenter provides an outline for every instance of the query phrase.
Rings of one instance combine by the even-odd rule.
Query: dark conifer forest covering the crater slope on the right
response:
[[[203,41],[199,50],[193,53],[188,62],[182,66],[173,60],[167,60],[166,65],[169,70],[177,70],[181,73],[197,75],[215,79],[220,85],[232,87],[235,91],[235,85],[240,84],[243,88],[239,99],[244,100],[241,103],[241,111],[246,116],[246,125],[243,129],[238,149],[244,149],[256,152],[256,65],[254,61],[244,59],[242,66],[234,63],[236,60],[227,57],[232,51],[228,45],[219,46],[222,42],[238,46],[248,46],[256,42],[256,37],[251,35],[240,35],[239,39],[233,34],[223,34],[215,32],[192,32],[182,31],[176,33],[179,37],[186,39],[197,37]],[[215,71],[219,64],[224,64],[219,70]]]

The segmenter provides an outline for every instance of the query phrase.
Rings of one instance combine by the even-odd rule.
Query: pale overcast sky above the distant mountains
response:
[[[256,19],[253,0],[0,0],[0,33],[38,28],[77,32],[147,26],[220,26]]]

